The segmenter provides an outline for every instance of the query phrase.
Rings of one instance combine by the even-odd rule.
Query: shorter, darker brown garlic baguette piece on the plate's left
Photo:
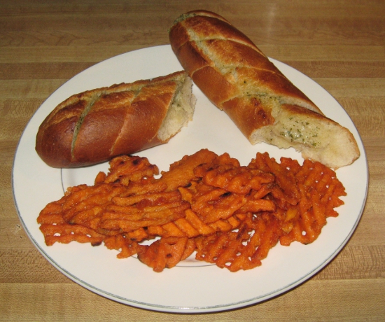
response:
[[[83,167],[165,144],[193,119],[186,71],[75,94],[38,129],[36,152],[51,167]]]

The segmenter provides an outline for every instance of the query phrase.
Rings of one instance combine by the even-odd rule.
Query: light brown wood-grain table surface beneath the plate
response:
[[[337,99],[363,139],[370,184],[353,237],[311,279],[251,307],[179,315],[107,300],[50,265],[22,229],[11,173],[22,131],[57,87],[109,57],[167,44],[173,20],[197,8]],[[385,321],[384,137],[384,0],[0,0],[0,321]]]

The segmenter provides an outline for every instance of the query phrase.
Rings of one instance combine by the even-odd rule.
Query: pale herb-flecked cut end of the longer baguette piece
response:
[[[302,158],[332,169],[351,165],[360,156],[353,134],[325,116],[295,105],[282,105],[274,112],[274,124],[255,130],[251,144],[265,142],[279,148],[295,148]]]

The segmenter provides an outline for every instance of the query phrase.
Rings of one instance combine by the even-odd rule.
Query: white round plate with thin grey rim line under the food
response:
[[[245,272],[229,272],[194,259],[178,267],[155,273],[136,258],[119,260],[115,251],[90,244],[45,246],[36,218],[48,202],[62,197],[67,186],[92,184],[102,164],[82,169],[53,169],[38,158],[34,150],[38,126],[52,109],[71,94],[113,83],[153,78],[181,70],[169,45],[145,48],[107,59],[79,73],[56,90],[36,111],[22,134],[13,165],[13,193],[20,221],[38,251],[60,272],[94,293],[112,300],[156,311],[211,312],[255,304],[279,295],[322,269],[342,249],[358,225],[367,195],[367,160],[360,136],[351,119],[320,85],[299,71],[272,59],[276,66],[309,96],[325,113],[349,128],[358,142],[360,158],[349,167],[337,170],[347,196],[337,218],[328,224],[314,243],[290,247],[277,245],[262,261],[262,266]],[[251,146],[237,127],[216,109],[194,86],[197,105],[193,122],[168,144],[138,153],[161,170],[209,148],[217,154],[230,153],[247,165],[258,151],[270,156],[286,156],[302,162],[293,149],[279,150],[267,144]]]

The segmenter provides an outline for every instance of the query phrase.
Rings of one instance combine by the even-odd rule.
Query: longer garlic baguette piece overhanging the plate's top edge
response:
[[[251,144],[293,147],[337,169],[359,155],[353,134],[322,111],[225,18],[206,10],[169,30],[176,57],[194,83],[225,111]]]

